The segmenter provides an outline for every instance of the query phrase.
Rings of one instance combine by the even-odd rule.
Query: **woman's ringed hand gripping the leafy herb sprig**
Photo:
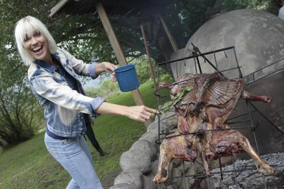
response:
[[[159,112],[146,106],[130,106],[126,109],[126,117],[141,122],[153,118],[153,114],[159,114]]]

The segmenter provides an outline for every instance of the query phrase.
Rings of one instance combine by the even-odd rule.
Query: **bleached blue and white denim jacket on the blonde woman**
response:
[[[60,48],[52,57],[76,79],[77,90],[68,86],[54,66],[41,60],[31,63],[28,70],[30,89],[39,100],[40,106],[45,109],[47,127],[52,133],[70,138],[85,135],[83,113],[90,114],[92,118],[99,116],[95,111],[105,100],[102,97],[87,97],[77,75],[97,78],[97,63],[86,64]]]

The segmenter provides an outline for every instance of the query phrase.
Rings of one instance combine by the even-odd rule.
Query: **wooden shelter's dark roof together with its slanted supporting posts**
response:
[[[121,66],[124,66],[127,64],[127,61],[112,28],[112,24],[110,23],[110,15],[151,17],[154,13],[158,13],[161,8],[165,8],[170,2],[170,0],[104,0],[103,2],[97,0],[61,0],[50,10],[51,13],[49,16],[65,15],[69,17],[71,15],[76,16],[98,13],[117,60]],[[165,26],[165,21],[160,13],[159,16]],[[165,30],[167,34],[170,35],[166,26]],[[173,42],[174,40],[172,37],[169,37],[171,42]],[[145,105],[138,89],[131,91],[131,93],[136,105]],[[144,122],[146,128],[148,128],[151,122],[151,120]]]

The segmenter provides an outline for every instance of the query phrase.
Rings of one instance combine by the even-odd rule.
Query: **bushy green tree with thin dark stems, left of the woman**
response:
[[[26,68],[16,54],[1,44],[0,56],[0,147],[16,145],[33,136],[38,128],[39,105],[28,87]]]

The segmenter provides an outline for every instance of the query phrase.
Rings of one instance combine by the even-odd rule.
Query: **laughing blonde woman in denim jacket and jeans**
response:
[[[31,16],[20,19],[16,23],[15,39],[23,62],[30,66],[30,89],[45,109],[47,150],[72,176],[67,188],[103,189],[84,139],[87,121],[84,115],[95,118],[100,114],[113,114],[144,122],[158,111],[145,106],[110,104],[101,97],[85,96],[78,75],[95,79],[109,72],[115,82],[116,66],[109,62],[86,64],[76,59],[57,47],[40,20]]]

